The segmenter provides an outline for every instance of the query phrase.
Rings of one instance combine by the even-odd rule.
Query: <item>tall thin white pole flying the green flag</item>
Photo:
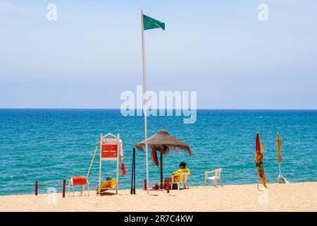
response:
[[[144,50],[144,20],[143,10],[141,10],[141,25],[142,25],[142,74],[143,74],[143,111],[144,111],[144,141],[145,141],[145,161],[147,165],[147,194],[149,194],[149,158],[147,145],[147,101],[145,93],[147,92],[147,76],[145,73],[145,50]]]

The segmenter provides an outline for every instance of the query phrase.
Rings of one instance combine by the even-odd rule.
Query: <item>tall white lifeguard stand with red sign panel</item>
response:
[[[109,138],[110,137],[110,138]],[[116,174],[116,194],[118,194],[118,179],[119,179],[119,155],[120,148],[120,135],[114,136],[111,133],[106,135],[100,134],[100,162],[99,162],[99,188],[101,186],[101,163],[102,161],[117,161],[117,174]],[[99,189],[100,195],[101,189]]]

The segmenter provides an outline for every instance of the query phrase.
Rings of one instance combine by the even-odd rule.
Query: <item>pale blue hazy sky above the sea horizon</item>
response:
[[[0,1],[0,107],[120,108],[142,85],[141,8],[166,23],[146,31],[149,90],[197,90],[199,108],[317,109],[313,0]]]

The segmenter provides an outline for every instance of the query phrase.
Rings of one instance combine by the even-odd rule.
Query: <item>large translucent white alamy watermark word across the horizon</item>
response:
[[[121,93],[120,100],[125,100],[120,107],[123,116],[143,115],[142,85],[137,85],[136,95],[130,90]],[[184,124],[197,120],[197,91],[159,91],[157,94],[148,90],[144,100],[147,116],[183,116]]]

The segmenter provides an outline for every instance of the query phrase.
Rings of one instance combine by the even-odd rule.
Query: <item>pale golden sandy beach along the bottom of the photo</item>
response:
[[[181,191],[119,190],[118,195],[62,198],[56,194],[0,196],[0,211],[317,211],[317,182],[193,186]],[[261,190],[264,190],[260,186]]]

